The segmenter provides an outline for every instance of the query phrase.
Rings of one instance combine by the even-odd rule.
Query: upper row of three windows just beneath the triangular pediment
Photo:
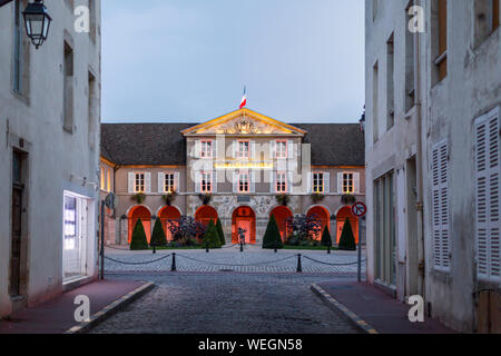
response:
[[[255,156],[255,141],[238,140],[233,144],[233,157],[237,159],[250,159]],[[217,156],[217,140],[200,140],[195,144],[197,158],[213,159]],[[274,140],[269,142],[271,157],[276,159],[293,158],[293,142],[287,140]]]

